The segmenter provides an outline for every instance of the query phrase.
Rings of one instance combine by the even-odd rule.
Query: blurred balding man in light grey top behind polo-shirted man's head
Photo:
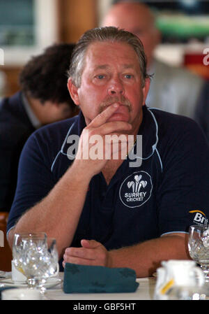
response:
[[[102,26],[125,29],[141,39],[148,59],[148,74],[153,74],[146,105],[194,118],[203,79],[186,69],[155,59],[154,51],[160,44],[161,35],[150,8],[136,1],[118,1],[111,6]]]

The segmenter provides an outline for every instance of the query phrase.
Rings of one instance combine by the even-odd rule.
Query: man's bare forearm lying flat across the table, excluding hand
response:
[[[109,251],[110,267],[130,267],[137,277],[152,276],[162,260],[188,259],[187,234],[172,234]]]

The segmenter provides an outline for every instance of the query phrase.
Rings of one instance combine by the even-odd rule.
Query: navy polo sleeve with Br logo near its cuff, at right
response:
[[[162,184],[157,190],[160,234],[187,232],[209,217],[209,148],[196,122],[181,121],[180,131],[162,151]]]

